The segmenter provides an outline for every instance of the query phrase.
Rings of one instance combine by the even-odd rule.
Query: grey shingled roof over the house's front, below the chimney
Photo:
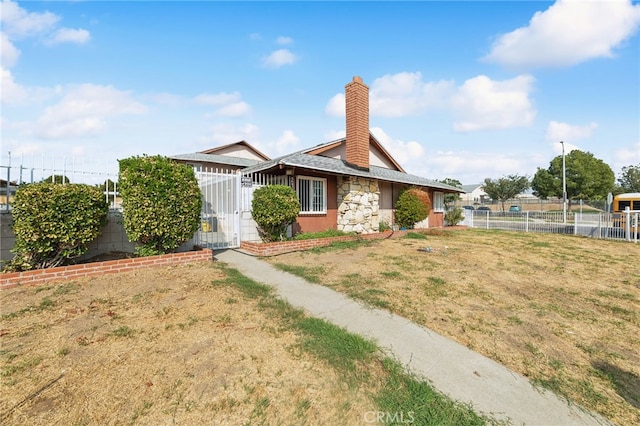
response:
[[[305,150],[307,151],[307,150]],[[430,188],[442,189],[449,192],[462,192],[460,188],[446,185],[420,176],[411,175],[385,167],[370,166],[369,170],[364,170],[350,166],[346,161],[337,158],[322,157],[320,155],[310,155],[305,151],[299,151],[290,155],[275,158],[270,161],[256,164],[242,170],[243,174],[255,172],[267,172],[281,167],[298,167],[307,170],[325,172],[336,175],[357,176],[371,179],[378,179],[387,182],[398,182],[408,185],[426,186]]]

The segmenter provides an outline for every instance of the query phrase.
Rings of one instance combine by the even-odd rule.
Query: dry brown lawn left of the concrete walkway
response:
[[[0,293],[3,425],[355,424],[374,405],[216,264]]]

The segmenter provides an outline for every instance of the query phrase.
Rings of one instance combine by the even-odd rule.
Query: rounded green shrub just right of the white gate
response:
[[[291,187],[269,185],[253,193],[251,216],[264,242],[284,240],[287,226],[296,221],[298,213],[300,201]]]

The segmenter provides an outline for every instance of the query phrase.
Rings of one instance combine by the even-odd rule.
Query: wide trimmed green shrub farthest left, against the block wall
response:
[[[7,270],[51,268],[87,252],[102,232],[109,206],[89,185],[21,185],[12,204],[16,242]]]

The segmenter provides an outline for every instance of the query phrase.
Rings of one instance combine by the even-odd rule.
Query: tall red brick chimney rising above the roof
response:
[[[347,112],[346,160],[369,170],[369,87],[361,77],[344,87]]]

